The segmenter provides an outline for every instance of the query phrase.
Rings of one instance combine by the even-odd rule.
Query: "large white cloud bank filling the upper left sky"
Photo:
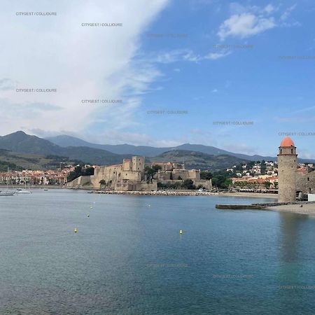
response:
[[[101,120],[97,132],[134,125],[141,95],[160,72],[134,62],[139,36],[169,0],[42,1],[1,3],[0,103],[6,113],[0,134],[18,130],[84,133]],[[56,17],[15,12],[57,12]],[[82,27],[83,22],[121,22],[123,27]],[[11,84],[12,83],[12,84]],[[14,84],[13,84],[14,83]],[[15,88],[57,88],[56,93],[18,93]],[[130,96],[132,94],[132,97]],[[82,99],[123,99],[120,105],[82,104]],[[29,104],[50,104],[35,109]],[[52,107],[55,106],[55,107]],[[25,115],[28,115],[25,119]]]

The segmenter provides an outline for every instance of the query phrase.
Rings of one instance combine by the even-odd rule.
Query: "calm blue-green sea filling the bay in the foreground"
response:
[[[214,207],[263,201],[0,197],[0,314],[315,314],[315,219]]]

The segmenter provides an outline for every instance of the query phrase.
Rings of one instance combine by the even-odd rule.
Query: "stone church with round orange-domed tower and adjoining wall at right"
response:
[[[297,152],[292,139],[281,141],[278,154],[278,201],[295,202],[297,194],[315,193],[315,171],[297,172]]]

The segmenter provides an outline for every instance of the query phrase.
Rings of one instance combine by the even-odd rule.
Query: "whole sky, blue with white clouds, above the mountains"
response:
[[[10,60],[0,67],[7,113],[1,134],[23,129],[103,144],[189,142],[275,155],[279,132],[296,132],[292,139],[300,156],[315,158],[314,1],[78,1],[78,6],[25,1],[23,8],[17,3],[5,1],[1,12],[8,34],[0,39],[8,45],[15,39],[0,53]],[[57,11],[57,17],[26,20],[12,14],[20,10]],[[123,27],[80,27],[107,20]],[[10,51],[18,49],[16,36],[30,37],[20,38],[24,52]],[[57,87],[58,93],[17,95],[16,87],[26,86]],[[80,99],[123,104],[91,106]],[[214,125],[217,121],[253,124]],[[313,135],[302,135],[309,132]]]

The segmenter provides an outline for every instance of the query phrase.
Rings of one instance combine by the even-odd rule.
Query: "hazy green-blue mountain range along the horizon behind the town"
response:
[[[225,169],[241,162],[248,162],[248,160],[276,160],[275,157],[232,153],[214,146],[199,144],[182,144],[181,146],[172,148],[132,146],[130,144],[92,144],[67,135],[42,139],[22,131],[0,137],[0,149],[19,153],[19,159],[22,159],[24,154],[26,161],[29,159],[29,155],[32,155],[38,161],[41,161],[43,158],[49,160],[49,156],[57,156],[65,158],[64,160],[81,161],[92,165],[113,165],[121,163],[124,158],[131,158],[133,155],[142,155],[146,157],[146,162],[184,161],[188,169],[209,170]],[[59,161],[58,158],[53,158],[52,160],[54,162]],[[314,160],[300,161],[315,162]],[[43,165],[43,161],[38,162],[38,164]],[[32,165],[32,168],[34,167],[36,165]]]

